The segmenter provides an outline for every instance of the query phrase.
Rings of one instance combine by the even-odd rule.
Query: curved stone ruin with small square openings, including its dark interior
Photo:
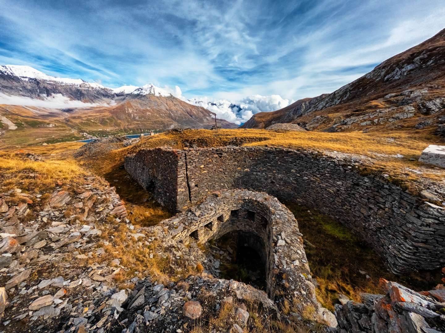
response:
[[[298,223],[267,193],[241,189],[214,193],[153,229],[165,246],[181,251],[182,260],[190,258],[189,265],[197,266],[202,258],[210,274],[250,283],[272,300],[290,288],[289,299],[307,302],[309,295],[315,302]],[[210,252],[202,251],[204,244]]]

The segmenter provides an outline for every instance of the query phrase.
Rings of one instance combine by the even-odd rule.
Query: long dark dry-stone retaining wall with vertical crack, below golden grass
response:
[[[164,160],[157,159],[158,154]],[[167,165],[166,161],[172,162]],[[138,166],[133,166],[135,162]],[[259,190],[342,222],[385,258],[395,273],[430,270],[445,263],[445,209],[421,201],[384,178],[360,175],[351,161],[271,147],[154,149],[125,159],[126,169],[140,183],[145,173],[158,170],[156,163],[170,170],[164,173],[177,174],[176,198],[170,192],[169,202],[165,195],[159,197],[177,210],[215,190]],[[166,182],[162,177],[158,176],[158,183]]]

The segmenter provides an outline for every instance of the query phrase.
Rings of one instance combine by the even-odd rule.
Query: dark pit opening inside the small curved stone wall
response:
[[[237,230],[210,242],[220,249],[220,277],[266,290],[266,246],[259,236]],[[222,252],[222,253],[221,253]]]

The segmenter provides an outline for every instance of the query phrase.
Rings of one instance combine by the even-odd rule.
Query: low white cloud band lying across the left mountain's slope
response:
[[[71,100],[62,94],[54,94],[44,99],[34,99],[24,96],[9,96],[0,93],[0,104],[23,105],[28,107],[48,107],[52,109],[64,109],[66,107],[99,107],[109,106],[106,103],[84,103]]]

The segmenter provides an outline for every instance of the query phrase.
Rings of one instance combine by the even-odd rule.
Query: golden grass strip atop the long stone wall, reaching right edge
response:
[[[340,152],[361,157],[359,170],[365,174],[388,174],[389,180],[405,190],[416,193],[415,182],[429,178],[441,182],[445,170],[433,169],[417,162],[421,152],[429,144],[443,144],[437,136],[429,132],[386,131],[362,133],[327,133],[317,131],[269,131],[258,129],[235,130],[188,130],[165,132],[151,138],[144,138],[134,147],[115,152],[123,156],[140,149],[169,145],[182,149],[184,144],[198,147],[218,147],[227,144],[243,146],[272,146],[290,149],[310,149],[316,151]],[[397,154],[403,157],[397,157]],[[411,161],[410,159],[413,159]],[[421,168],[422,173],[416,172]]]

